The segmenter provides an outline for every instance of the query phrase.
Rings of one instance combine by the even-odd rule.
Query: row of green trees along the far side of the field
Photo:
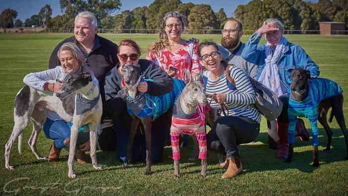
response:
[[[199,33],[199,29],[222,29],[228,19],[224,8],[214,12],[210,5],[182,3],[181,0],[154,0],[149,6],[118,12],[120,0],[60,0],[62,12],[52,18],[49,4],[37,14],[22,22],[16,19],[17,11],[6,8],[0,13],[0,27],[41,26],[53,31],[72,29],[75,16],[81,11],[92,11],[98,19],[98,27],[104,29],[159,29],[168,11],[179,11],[185,16],[186,30]],[[345,22],[348,27],[348,0],[252,0],[238,5],[234,18],[242,21],[244,29],[255,30],[269,17],[280,19],[285,29],[318,30],[318,21]],[[136,30],[141,32],[142,30]]]

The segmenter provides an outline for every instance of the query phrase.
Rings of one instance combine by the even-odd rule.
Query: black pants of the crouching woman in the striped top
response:
[[[254,141],[260,132],[260,123],[240,117],[223,116],[216,120],[207,135],[208,149],[226,152],[227,158],[239,157],[238,145]]]

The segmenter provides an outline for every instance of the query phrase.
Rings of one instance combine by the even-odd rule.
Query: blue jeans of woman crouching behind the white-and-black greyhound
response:
[[[64,120],[51,120],[46,119],[43,125],[43,131],[48,139],[54,140],[54,146],[57,149],[68,147],[69,144],[65,144],[64,141],[70,138],[70,127]],[[87,142],[89,140],[89,132],[79,132],[77,146]]]

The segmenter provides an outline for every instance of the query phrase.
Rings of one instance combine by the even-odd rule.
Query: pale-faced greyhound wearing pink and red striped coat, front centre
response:
[[[205,107],[207,103],[207,98],[204,94],[203,86],[201,82],[199,81],[193,81],[191,73],[187,70],[185,70],[185,81],[186,86],[182,90],[181,95],[174,103],[174,109],[173,109],[173,120],[172,120],[172,138],[175,134],[178,135],[179,133],[182,134],[190,134],[190,135],[196,135],[198,140],[202,140],[199,144],[200,152],[204,151],[206,152],[206,141],[204,138],[206,138],[205,133],[205,109],[202,109],[202,107]],[[196,114],[196,115],[193,115]],[[198,114],[198,115],[197,115]],[[178,120],[175,120],[178,119]],[[185,125],[182,123],[180,119],[184,119],[182,121],[189,121],[194,124],[188,124]],[[178,136],[176,137],[178,139]],[[195,138],[193,138],[193,141],[196,141]],[[204,145],[205,142],[205,145]],[[175,141],[172,139],[172,149],[173,152],[177,151],[179,152],[180,149],[178,145],[173,145]],[[178,144],[178,142],[176,142]],[[174,153],[173,153],[174,154]],[[174,158],[174,156],[173,156]],[[201,176],[205,177],[207,173],[207,160],[201,159]],[[179,171],[179,160],[174,159],[174,176],[175,178],[180,177],[180,171]]]

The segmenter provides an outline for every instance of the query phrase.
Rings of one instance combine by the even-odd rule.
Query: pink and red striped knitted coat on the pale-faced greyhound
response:
[[[173,107],[171,140],[173,159],[180,160],[180,134],[196,135],[199,144],[199,159],[207,159],[207,136],[205,133],[205,113],[207,105],[198,104],[197,110],[190,115],[185,114],[176,100]]]

